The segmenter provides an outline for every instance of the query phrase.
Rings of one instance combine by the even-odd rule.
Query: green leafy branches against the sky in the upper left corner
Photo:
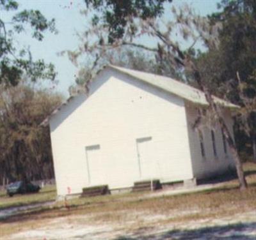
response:
[[[15,45],[15,34],[30,27],[32,38],[42,41],[43,33],[47,30],[56,33],[54,19],[48,21],[38,10],[19,10],[19,4],[14,0],[0,0],[0,13],[13,12],[12,19],[3,19],[0,15],[0,84],[15,86],[24,77],[36,79],[54,79],[54,66],[46,64],[44,60],[33,61],[28,49],[19,49]]]

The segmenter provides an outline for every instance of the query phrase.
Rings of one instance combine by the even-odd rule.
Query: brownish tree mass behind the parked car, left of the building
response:
[[[3,87],[4,88],[4,87]],[[0,91],[0,176],[44,179],[53,174],[49,130],[40,127],[62,97],[26,82]]]

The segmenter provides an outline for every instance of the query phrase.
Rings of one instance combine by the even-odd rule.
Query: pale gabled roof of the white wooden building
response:
[[[205,105],[205,106],[209,105],[209,103],[205,98],[205,94],[202,91],[200,91],[199,89],[196,89],[195,87],[191,87],[188,84],[184,84],[183,82],[172,79],[170,77],[164,77],[161,75],[156,75],[154,73],[145,73],[144,71],[130,70],[128,68],[121,68],[119,66],[113,66],[113,65],[105,66],[103,70],[100,70],[100,71],[104,71],[104,69],[106,68],[110,68],[111,70],[118,71],[136,80],[150,84],[153,87],[157,87],[158,89],[162,89],[168,93],[174,94],[175,96],[178,96],[191,103]],[[63,104],[61,104],[60,107],[55,109],[52,112],[51,116],[47,117],[41,123],[41,125],[45,126],[49,122],[49,119],[55,114],[57,114],[64,105],[67,105],[72,98],[74,98],[74,96],[71,96],[70,98],[68,98],[68,100],[65,101]],[[223,107],[227,107],[229,109],[239,108],[239,106],[234,105],[233,103],[230,103],[228,101],[222,100],[220,98],[217,98],[216,96],[213,96],[213,98],[216,103],[218,103],[219,105],[222,105]]]

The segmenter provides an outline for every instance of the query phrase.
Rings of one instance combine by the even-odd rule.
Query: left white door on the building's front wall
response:
[[[88,183],[92,186],[106,184],[104,177],[104,166],[100,156],[100,146],[93,145],[85,147]]]

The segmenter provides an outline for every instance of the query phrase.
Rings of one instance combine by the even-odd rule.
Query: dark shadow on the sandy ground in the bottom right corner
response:
[[[115,240],[165,240],[165,239],[243,239],[251,240],[256,237],[256,222],[239,223],[215,227],[203,227],[192,230],[171,230],[160,234],[147,234],[147,230],[139,230],[129,236],[120,236]]]

